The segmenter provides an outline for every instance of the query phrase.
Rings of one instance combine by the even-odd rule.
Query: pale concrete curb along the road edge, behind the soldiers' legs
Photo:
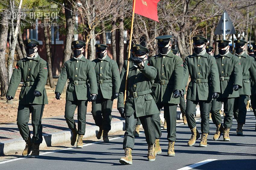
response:
[[[196,108],[196,115],[200,116],[199,108]],[[177,120],[182,120],[181,112],[177,112]],[[164,122],[164,113],[160,114],[162,122]],[[86,126],[86,134],[83,136],[83,139],[95,137],[98,134],[98,126]],[[125,120],[120,120],[111,123],[111,130],[109,133],[114,133],[118,131],[125,130]],[[31,135],[32,137],[33,135]],[[67,131],[58,131],[48,134],[43,134],[43,141],[40,144],[40,148],[50,147],[53,145],[67,143],[71,141],[71,130]],[[24,150],[26,143],[23,138],[11,139],[7,141],[0,142],[0,156],[13,154],[15,152],[21,152]]]

